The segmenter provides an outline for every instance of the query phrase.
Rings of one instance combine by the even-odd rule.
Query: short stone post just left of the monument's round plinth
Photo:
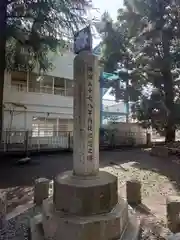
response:
[[[35,181],[34,186],[34,203],[41,205],[43,200],[49,197],[50,180],[47,178],[39,178]]]

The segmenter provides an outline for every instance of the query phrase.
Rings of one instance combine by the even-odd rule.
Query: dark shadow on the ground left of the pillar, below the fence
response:
[[[0,165],[0,188],[33,186],[35,179],[53,179],[58,173],[72,169],[72,154],[34,156],[30,163],[17,164],[17,159]]]

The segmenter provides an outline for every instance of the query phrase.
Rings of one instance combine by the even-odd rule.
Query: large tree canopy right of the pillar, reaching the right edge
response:
[[[145,126],[175,137],[179,114],[180,2],[173,0],[125,1],[117,21],[104,18],[102,30],[105,69],[119,69],[135,105],[135,116]],[[124,73],[125,72],[125,73]]]

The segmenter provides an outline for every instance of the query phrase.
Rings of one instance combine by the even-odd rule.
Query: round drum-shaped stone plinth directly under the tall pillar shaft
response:
[[[56,210],[66,214],[107,213],[118,202],[117,177],[103,171],[94,177],[77,177],[65,172],[54,181],[53,197]]]

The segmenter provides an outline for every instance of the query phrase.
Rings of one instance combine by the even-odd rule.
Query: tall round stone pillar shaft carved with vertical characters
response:
[[[73,171],[77,176],[99,171],[100,83],[98,58],[88,51],[74,60]]]

